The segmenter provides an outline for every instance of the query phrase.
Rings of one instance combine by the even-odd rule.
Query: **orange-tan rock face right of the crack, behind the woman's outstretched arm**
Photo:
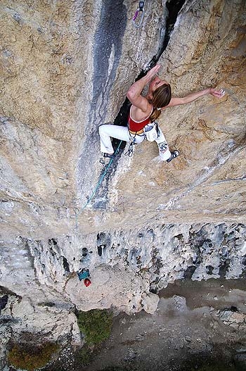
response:
[[[167,142],[181,156],[164,165],[153,161],[155,144],[136,149],[129,176],[120,177],[117,188],[122,218],[131,210],[138,220],[144,208],[140,218],[148,212],[149,219],[172,222],[245,220],[243,19],[242,1],[187,1],[183,6],[160,58],[160,75],[176,96],[213,86],[226,89],[226,96],[205,96],[162,113]]]

